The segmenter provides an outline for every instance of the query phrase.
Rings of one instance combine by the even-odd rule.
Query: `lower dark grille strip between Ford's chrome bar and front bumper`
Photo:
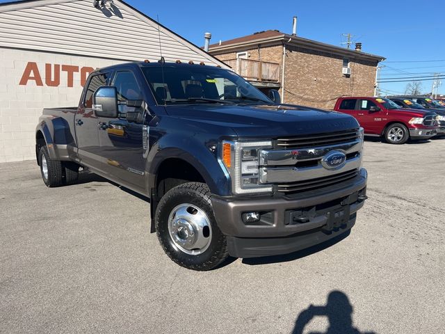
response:
[[[284,193],[296,193],[298,191],[307,191],[332,186],[340,182],[345,182],[357,176],[358,170],[348,170],[344,173],[334,174],[325,177],[318,177],[313,180],[304,180],[300,182],[277,184],[277,191]]]

